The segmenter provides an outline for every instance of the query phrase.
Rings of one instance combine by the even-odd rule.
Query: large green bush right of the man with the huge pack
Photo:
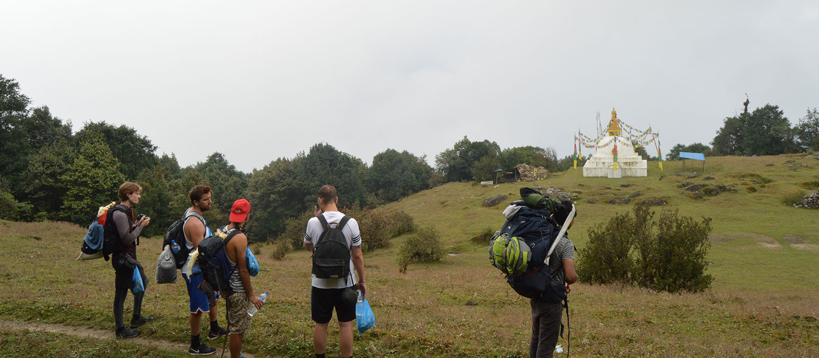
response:
[[[590,284],[636,284],[655,291],[699,292],[710,287],[705,274],[711,219],[701,222],[648,207],[612,217],[589,229],[578,252],[577,274]]]

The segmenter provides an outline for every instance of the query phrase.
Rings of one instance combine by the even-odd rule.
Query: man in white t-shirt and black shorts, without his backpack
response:
[[[323,215],[328,222],[328,227],[337,227],[341,222],[343,213],[338,211],[336,204],[338,197],[336,188],[333,186],[322,186],[319,189],[319,207],[313,208],[316,217],[311,217],[307,222],[305,233],[305,248],[312,252],[313,247],[318,244],[319,236],[324,232],[319,221],[319,215]],[[367,286],[364,285],[364,255],[361,253],[361,234],[358,222],[350,218],[344,226],[342,233],[347,239],[350,248],[350,275],[338,279],[319,279],[313,275],[313,287],[310,291],[310,313],[315,322],[313,329],[313,346],[316,358],[324,358],[327,350],[327,326],[333,317],[333,308],[336,310],[339,332],[338,347],[342,353],[342,358],[353,356],[353,324],[355,320],[355,302],[351,304],[342,300],[342,293],[346,288],[359,289],[366,295]],[[353,273],[355,269],[355,275]],[[356,280],[357,279],[357,280]]]

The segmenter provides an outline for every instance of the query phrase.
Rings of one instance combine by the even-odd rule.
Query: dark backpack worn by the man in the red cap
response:
[[[236,270],[224,248],[233,236],[244,231],[243,227],[237,227],[225,232],[224,227],[221,227],[216,230],[215,235],[208,236],[199,243],[197,263],[202,271],[202,279],[210,284],[210,289],[219,291],[224,296],[229,296],[233,291],[230,288],[230,275]]]

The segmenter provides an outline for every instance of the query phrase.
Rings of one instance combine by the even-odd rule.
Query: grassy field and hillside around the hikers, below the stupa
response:
[[[791,171],[788,160],[810,165]],[[705,172],[689,179],[690,172],[675,175],[681,171],[680,162],[666,162],[662,180],[657,163],[649,163],[649,177],[640,178],[584,178],[578,168],[534,183],[497,187],[450,183],[387,204],[383,209],[404,210],[419,225],[439,230],[450,256],[437,264],[410,265],[401,274],[396,257],[405,236],[392,239],[388,248],[365,253],[376,326],[363,335],[356,333],[355,356],[528,355],[527,299],[508,289],[500,271],[488,264],[486,246],[469,241],[481,230],[494,231],[503,223],[500,212],[505,204],[484,208],[482,200],[504,194],[509,195],[506,202],[512,201],[522,186],[581,192],[580,217],[570,232],[577,248],[584,247],[590,226],[631,210],[634,203],[608,204],[610,199],[636,191],[643,194],[635,200],[667,197],[668,204],[656,210],[678,209],[681,215],[713,218],[708,273],[715,280],[704,293],[588,285],[581,277],[571,294],[572,356],[817,356],[819,210],[781,202],[793,190],[806,195],[812,191],[803,183],[819,180],[817,164],[819,160],[799,155],[708,158]],[[705,181],[706,176],[714,179]],[[770,182],[760,184],[759,176]],[[692,192],[677,187],[684,181],[724,184],[736,191],[695,199]],[[751,186],[755,192],[749,192]],[[587,204],[589,199],[595,204]],[[84,230],[62,222],[0,222],[4,283],[0,320],[110,329],[113,336],[110,263],[73,261]],[[154,266],[160,244],[158,238],[142,240],[138,257],[146,268]],[[254,317],[245,347],[260,356],[310,357],[310,253],[294,251],[283,261],[274,261],[269,258],[272,248],[261,250],[256,255],[261,271],[252,282],[256,291],[268,290],[273,298]],[[129,296],[126,318],[130,304]],[[143,329],[144,337],[188,340],[187,295],[181,282],[149,285],[143,312],[156,318]],[[57,352],[49,353],[52,356],[70,351],[53,334],[20,331],[13,339],[2,341],[0,348],[17,347],[19,342],[19,347]],[[141,355],[137,352],[142,348],[127,341],[67,339],[99,351],[121,347],[116,349]],[[566,342],[561,343],[565,347]],[[333,333],[328,356],[337,356],[337,351]],[[156,356],[173,354],[156,351]],[[70,356],[106,355],[85,349]]]

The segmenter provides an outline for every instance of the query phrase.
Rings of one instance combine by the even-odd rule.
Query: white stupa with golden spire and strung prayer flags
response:
[[[623,132],[623,127],[628,129]],[[634,136],[634,132],[636,136]],[[592,148],[595,154],[586,160],[583,166],[583,177],[646,177],[648,176],[648,163],[640,154],[636,153],[637,145],[648,145],[654,142],[657,148],[657,156],[660,159],[659,168],[663,170],[663,159],[659,150],[659,133],[651,132],[649,127],[646,131],[631,128],[626,123],[622,123],[617,118],[617,111],[612,109],[612,119],[609,121],[609,128],[592,139],[584,136],[578,131],[577,142],[582,147]],[[626,138],[628,136],[628,138]],[[575,150],[577,157],[578,152]],[[577,162],[575,162],[577,168]]]

